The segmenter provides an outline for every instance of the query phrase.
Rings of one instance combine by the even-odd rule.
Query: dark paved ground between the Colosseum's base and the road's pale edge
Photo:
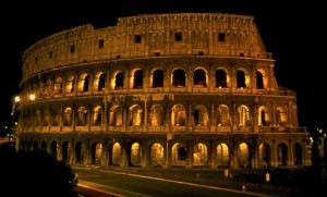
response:
[[[239,170],[208,170],[208,169],[142,169],[142,168],[96,168],[89,167],[93,170],[106,170],[114,172],[123,172],[129,174],[138,174],[145,176],[155,176],[167,180],[177,180],[183,182],[198,183],[210,186],[218,186],[231,189],[246,189],[249,192],[267,194],[272,196],[325,196],[326,189],[314,189],[303,187],[303,185],[294,185],[290,183],[292,177],[283,177],[284,171],[269,174],[267,178],[267,170],[265,169],[239,169]],[[279,177],[276,177],[277,174]],[[289,176],[289,175],[288,175]],[[269,182],[267,182],[267,180]],[[312,180],[307,180],[312,182]],[[88,197],[88,196],[84,196]],[[90,196],[89,196],[90,197]],[[99,196],[100,197],[100,196]],[[105,197],[105,196],[104,196]]]

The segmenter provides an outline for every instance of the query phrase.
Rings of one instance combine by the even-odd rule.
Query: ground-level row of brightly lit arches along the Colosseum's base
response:
[[[258,147],[240,141],[232,144],[218,143],[213,146],[206,141],[171,141],[169,145],[161,140],[150,144],[133,141],[72,143],[72,140],[49,144],[47,140],[20,140],[20,149],[43,149],[50,152],[58,160],[70,163],[118,165],[118,167],[209,167],[209,168],[240,168],[302,165],[305,155],[303,144],[292,145],[280,141],[277,145],[262,143]],[[276,147],[276,149],[274,149]],[[168,148],[168,151],[167,151]]]

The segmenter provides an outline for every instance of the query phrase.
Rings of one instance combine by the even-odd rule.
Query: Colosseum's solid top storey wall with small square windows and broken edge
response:
[[[270,59],[253,16],[169,13],[118,19],[116,26],[86,24],[46,37],[23,54],[23,78],[76,63],[168,56]]]

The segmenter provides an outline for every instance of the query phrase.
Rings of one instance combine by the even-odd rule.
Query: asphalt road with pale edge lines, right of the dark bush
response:
[[[267,196],[246,190],[233,190],[202,184],[179,182],[132,173],[74,169],[78,186],[94,188],[117,197],[246,197]],[[84,196],[86,197],[86,196]],[[105,197],[105,195],[104,195]]]

